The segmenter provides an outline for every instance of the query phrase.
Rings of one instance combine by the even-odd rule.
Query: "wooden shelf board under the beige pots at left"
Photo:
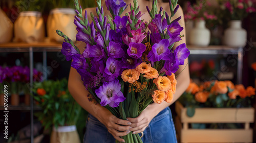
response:
[[[38,42],[38,43],[3,43],[0,44],[0,53],[8,52],[59,52],[61,50],[61,43],[57,42]]]

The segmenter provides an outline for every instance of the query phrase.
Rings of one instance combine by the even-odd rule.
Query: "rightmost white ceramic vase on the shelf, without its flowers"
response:
[[[245,46],[247,32],[242,28],[241,20],[231,20],[230,27],[224,31],[223,43],[228,46]]]

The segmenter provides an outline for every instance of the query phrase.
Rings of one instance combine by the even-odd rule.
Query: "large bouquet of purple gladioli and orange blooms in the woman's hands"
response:
[[[141,19],[136,0],[122,17],[128,6],[122,0],[105,1],[112,17],[104,16],[98,0],[97,16],[91,13],[92,23],[87,11],[83,17],[78,1],[74,2],[76,39],[87,44],[85,50],[79,51],[66,35],[56,32],[65,38],[61,52],[73,60],[71,66],[81,75],[89,97],[123,120],[137,117],[153,102],[172,102],[177,83],[174,73],[189,55],[185,43],[173,49],[183,30],[178,23],[181,17],[171,20],[179,8],[177,0],[169,1],[170,16],[162,8],[158,11],[157,1],[153,1],[152,10],[147,7],[152,18],[149,22]],[[142,142],[138,134],[123,138]]]

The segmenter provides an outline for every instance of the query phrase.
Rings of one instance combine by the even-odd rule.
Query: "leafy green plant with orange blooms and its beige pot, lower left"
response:
[[[42,108],[35,115],[45,129],[53,127],[50,142],[57,142],[57,139],[80,142],[75,125],[81,107],[69,93],[68,81],[36,82],[33,92],[36,103]]]

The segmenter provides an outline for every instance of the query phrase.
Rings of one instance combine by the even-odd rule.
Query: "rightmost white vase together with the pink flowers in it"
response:
[[[229,20],[229,28],[224,31],[223,43],[229,46],[245,46],[247,32],[242,28],[242,20],[248,13],[255,12],[252,1],[220,1],[223,19]]]

